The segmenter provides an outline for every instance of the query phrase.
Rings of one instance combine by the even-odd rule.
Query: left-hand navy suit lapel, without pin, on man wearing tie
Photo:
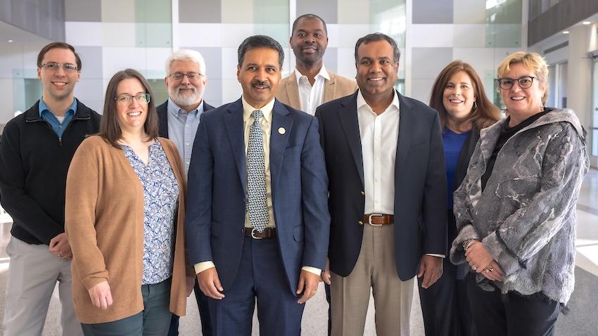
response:
[[[229,136],[231,150],[238,171],[238,178],[241,179],[243,190],[247,190],[247,173],[245,163],[245,141],[243,139],[243,104],[241,99],[229,105],[225,111],[224,127]]]

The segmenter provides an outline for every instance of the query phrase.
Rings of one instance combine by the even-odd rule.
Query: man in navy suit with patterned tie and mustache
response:
[[[284,53],[271,37],[238,48],[243,96],[203,113],[189,169],[186,241],[215,335],[300,335],[329,241],[317,119],[276,101]]]

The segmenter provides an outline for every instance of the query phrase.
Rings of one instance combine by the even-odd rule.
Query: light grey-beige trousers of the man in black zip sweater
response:
[[[6,246],[11,257],[6,280],[4,335],[42,335],[48,306],[58,281],[63,335],[83,335],[72,304],[70,259],[59,259],[48,245],[27,244],[11,236]]]

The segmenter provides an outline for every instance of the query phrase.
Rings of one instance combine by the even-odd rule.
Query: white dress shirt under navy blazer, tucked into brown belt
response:
[[[380,115],[357,92],[364,172],[365,214],[395,214],[395,159],[399,138],[399,97]],[[397,224],[397,223],[395,223]],[[444,254],[428,254],[444,258]]]

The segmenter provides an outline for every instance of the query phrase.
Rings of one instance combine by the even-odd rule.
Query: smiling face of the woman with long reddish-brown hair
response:
[[[471,113],[473,102],[476,101],[474,92],[475,88],[467,72],[459,71],[450,77],[443,92],[443,105],[450,124],[466,118]]]

